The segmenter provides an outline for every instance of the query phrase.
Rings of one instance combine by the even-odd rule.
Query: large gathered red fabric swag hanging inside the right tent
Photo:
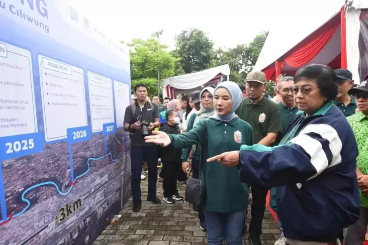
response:
[[[298,45],[298,49],[293,50],[285,57],[285,62],[292,67],[301,67],[310,62],[328,43],[332,35],[335,33],[338,25],[335,25],[316,37],[305,40],[305,43]]]

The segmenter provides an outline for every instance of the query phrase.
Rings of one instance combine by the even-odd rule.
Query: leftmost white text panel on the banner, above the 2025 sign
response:
[[[31,52],[0,42],[0,137],[36,132]]]

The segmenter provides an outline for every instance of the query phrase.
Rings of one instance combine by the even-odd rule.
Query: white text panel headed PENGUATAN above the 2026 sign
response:
[[[45,141],[67,138],[67,129],[88,125],[83,70],[38,56]]]

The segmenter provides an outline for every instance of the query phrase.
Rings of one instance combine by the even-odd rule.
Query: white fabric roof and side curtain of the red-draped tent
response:
[[[298,1],[299,2],[299,1]],[[339,14],[345,5],[345,0],[317,1],[299,3],[287,11],[288,15],[281,15],[278,25],[270,30],[268,37],[254,66],[256,70],[264,70],[275,64],[275,61],[286,55],[312,33],[323,27],[332,18]],[[359,82],[359,16],[361,10],[368,9],[367,0],[350,0],[346,4],[346,56],[347,68],[353,73],[353,79]],[[361,20],[360,20],[361,21]],[[360,50],[361,52],[361,50]],[[310,63],[329,64],[338,58],[341,53],[341,27],[338,26],[329,42],[316,54]],[[360,57],[361,59],[361,57]],[[283,70],[293,71],[300,67],[291,67],[285,64]],[[361,74],[360,74],[361,75]]]

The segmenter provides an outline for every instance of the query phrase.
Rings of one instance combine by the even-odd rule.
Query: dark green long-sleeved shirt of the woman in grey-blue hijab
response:
[[[238,117],[228,122],[213,118],[201,120],[186,134],[169,135],[171,145],[175,148],[186,148],[200,143],[203,146],[206,130],[207,159],[224,152],[238,151],[243,144],[253,145],[252,128]],[[248,187],[240,182],[239,170],[236,167],[225,167],[218,162],[201,161],[201,164],[206,164],[204,178],[201,174],[207,190],[206,210],[244,211],[248,206]]]

